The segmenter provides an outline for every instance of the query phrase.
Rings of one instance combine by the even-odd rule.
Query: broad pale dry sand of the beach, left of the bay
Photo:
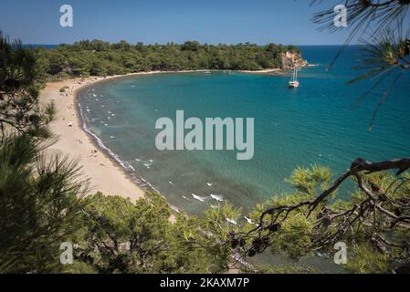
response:
[[[118,78],[118,77],[113,77]],[[119,195],[137,200],[144,191],[124,172],[117,162],[111,161],[95,141],[82,128],[77,109],[77,90],[94,82],[109,78],[68,79],[47,83],[41,92],[41,103],[54,101],[58,110],[57,119],[50,125],[50,130],[58,137],[58,142],[47,149],[47,155],[68,155],[70,159],[79,158],[82,172],[90,181],[90,192],[106,195]],[[66,92],[59,90],[68,87]]]

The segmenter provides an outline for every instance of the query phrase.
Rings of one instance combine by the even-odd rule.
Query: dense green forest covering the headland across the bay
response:
[[[187,41],[183,45],[135,46],[121,41],[109,44],[100,40],[60,45],[55,49],[37,49],[38,64],[47,78],[119,75],[132,72],[184,69],[258,70],[281,68],[287,51],[296,47],[269,44],[201,45]]]

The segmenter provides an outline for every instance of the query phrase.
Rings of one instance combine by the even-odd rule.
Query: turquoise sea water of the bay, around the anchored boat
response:
[[[80,93],[79,104],[89,130],[129,172],[143,177],[173,205],[196,213],[217,203],[210,194],[221,194],[247,209],[288,192],[284,179],[297,166],[317,162],[338,175],[357,157],[379,161],[408,156],[409,76],[395,87],[369,132],[383,90],[375,90],[352,110],[352,102],[370,83],[345,84],[357,75],[352,67],[358,47],[348,47],[326,71],[337,50],[302,47],[314,66],[301,70],[299,89],[288,89],[288,76],[162,74],[95,85]],[[155,121],[174,120],[176,110],[184,110],[185,118],[204,120],[255,118],[254,159],[237,161],[237,151],[157,151]]]

